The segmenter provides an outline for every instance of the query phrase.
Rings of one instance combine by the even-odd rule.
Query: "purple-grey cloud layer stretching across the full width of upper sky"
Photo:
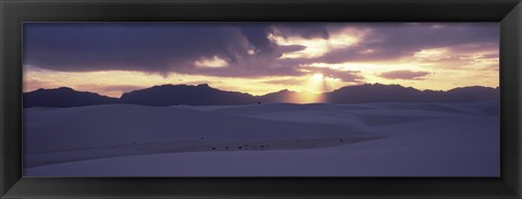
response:
[[[269,35],[332,38],[345,27],[369,29],[356,46],[320,58],[281,60],[300,45],[277,46]],[[128,23],[25,24],[24,64],[66,71],[139,71],[215,76],[302,75],[300,64],[398,59],[420,49],[498,43],[498,24]],[[364,53],[372,49],[372,53]],[[254,53],[252,53],[254,52]],[[219,57],[227,67],[197,67]],[[334,72],[335,73],[335,72]],[[346,74],[337,74],[344,76]],[[350,82],[351,76],[344,77]]]

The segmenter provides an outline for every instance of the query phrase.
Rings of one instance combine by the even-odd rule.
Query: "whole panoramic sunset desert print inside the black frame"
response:
[[[25,23],[25,176],[500,174],[498,23]]]

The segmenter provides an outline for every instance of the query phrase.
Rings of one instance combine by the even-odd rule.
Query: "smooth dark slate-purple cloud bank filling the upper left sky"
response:
[[[237,29],[198,24],[28,24],[25,64],[55,71],[167,72],[200,58],[234,62],[248,46]]]

